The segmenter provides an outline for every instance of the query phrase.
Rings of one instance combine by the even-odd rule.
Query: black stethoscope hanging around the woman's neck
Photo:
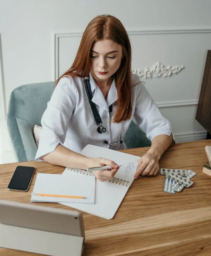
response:
[[[101,117],[98,113],[98,110],[96,108],[96,105],[94,102],[92,102],[92,91],[91,91],[91,86],[90,86],[90,77],[87,76],[84,78],[84,84],[85,84],[85,88],[86,88],[86,92],[87,92],[87,96],[88,96],[88,99],[89,99],[89,102],[90,102],[90,106],[92,108],[92,113],[93,113],[93,116],[95,118],[95,122],[96,122],[96,125],[98,126],[97,128],[97,131],[99,134],[102,134],[104,132],[106,132],[106,128],[103,126],[103,122],[101,120]],[[111,113],[113,111],[113,104],[109,106],[109,125],[110,125],[110,130],[111,130]],[[121,134],[122,134],[122,128],[123,128],[123,122],[121,122]],[[122,143],[123,141],[121,140],[121,134],[120,134],[120,140],[119,142],[116,142],[116,143],[109,143],[107,140],[104,140],[104,143],[105,144],[108,144],[108,145],[111,145],[111,146],[118,146],[120,143]]]

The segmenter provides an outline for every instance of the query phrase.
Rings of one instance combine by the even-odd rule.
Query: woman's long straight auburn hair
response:
[[[130,119],[131,105],[131,46],[127,32],[121,21],[111,15],[99,15],[87,25],[72,66],[62,76],[86,77],[90,73],[92,45],[99,40],[109,39],[122,46],[122,59],[114,74],[118,94],[117,111],[113,122]]]

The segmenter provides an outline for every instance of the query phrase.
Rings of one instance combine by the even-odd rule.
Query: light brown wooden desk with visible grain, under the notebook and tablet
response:
[[[83,256],[210,256],[211,177],[201,173],[208,161],[205,145],[211,140],[178,143],[162,156],[160,167],[192,169],[194,184],[182,192],[163,192],[165,176],[140,177],[134,181],[112,220],[83,212],[85,247]],[[148,148],[124,152],[142,156]],[[34,175],[28,192],[8,191],[17,165],[35,166],[36,172],[62,173],[64,167],[34,161],[0,165],[0,198],[30,203]],[[44,206],[71,209],[61,204]],[[35,254],[0,248],[0,256]],[[71,248],[70,248],[71,256]]]

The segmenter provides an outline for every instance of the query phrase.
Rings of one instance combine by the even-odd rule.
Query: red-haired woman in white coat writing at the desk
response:
[[[94,174],[110,180],[119,169],[116,163],[79,153],[87,144],[125,148],[122,140],[133,116],[152,141],[134,178],[156,175],[159,159],[172,143],[171,124],[139,77],[131,74],[130,41],[120,20],[97,16],[85,29],[72,67],[56,81],[41,120],[35,160],[79,169],[109,165],[111,170]]]

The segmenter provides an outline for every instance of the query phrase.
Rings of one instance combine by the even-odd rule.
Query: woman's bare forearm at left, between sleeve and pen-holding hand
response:
[[[60,144],[56,147],[55,151],[52,151],[41,158],[46,162],[54,165],[79,169],[88,168],[88,162],[90,160],[89,157],[84,157],[83,155],[78,154],[68,148],[65,148]]]

